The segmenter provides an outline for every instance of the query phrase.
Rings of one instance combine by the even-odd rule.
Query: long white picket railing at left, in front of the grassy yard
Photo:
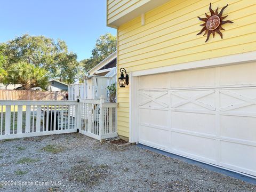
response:
[[[0,139],[76,132],[77,107],[76,101],[0,101]]]

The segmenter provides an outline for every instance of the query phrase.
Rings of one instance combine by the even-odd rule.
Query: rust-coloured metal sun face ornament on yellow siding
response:
[[[233,21],[223,21],[223,19],[225,19],[226,17],[228,17],[228,15],[226,15],[225,17],[222,17],[222,13],[223,11],[226,9],[226,7],[228,6],[228,4],[223,7],[220,11],[220,13],[218,13],[218,9],[219,7],[217,7],[216,11],[214,12],[212,10],[212,4],[210,3],[210,7],[209,10],[211,12],[211,15],[207,15],[205,13],[206,18],[199,18],[199,20],[204,21],[205,23],[203,23],[201,26],[204,26],[203,29],[196,35],[200,35],[203,33],[203,31],[205,31],[204,36],[207,34],[207,38],[206,41],[207,42],[209,40],[210,35],[212,34],[213,37],[215,36],[215,32],[218,33],[221,38],[222,38],[222,33],[220,30],[225,30],[221,27],[221,25],[225,24],[225,23],[233,23]]]

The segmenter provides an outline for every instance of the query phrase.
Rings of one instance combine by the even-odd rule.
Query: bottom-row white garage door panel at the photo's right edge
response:
[[[221,160],[223,164],[227,164],[242,172],[250,172],[256,175],[256,148],[239,143],[221,141]]]

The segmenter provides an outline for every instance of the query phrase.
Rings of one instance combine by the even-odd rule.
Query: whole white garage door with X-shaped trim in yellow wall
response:
[[[256,176],[256,63],[139,77],[139,142]]]

